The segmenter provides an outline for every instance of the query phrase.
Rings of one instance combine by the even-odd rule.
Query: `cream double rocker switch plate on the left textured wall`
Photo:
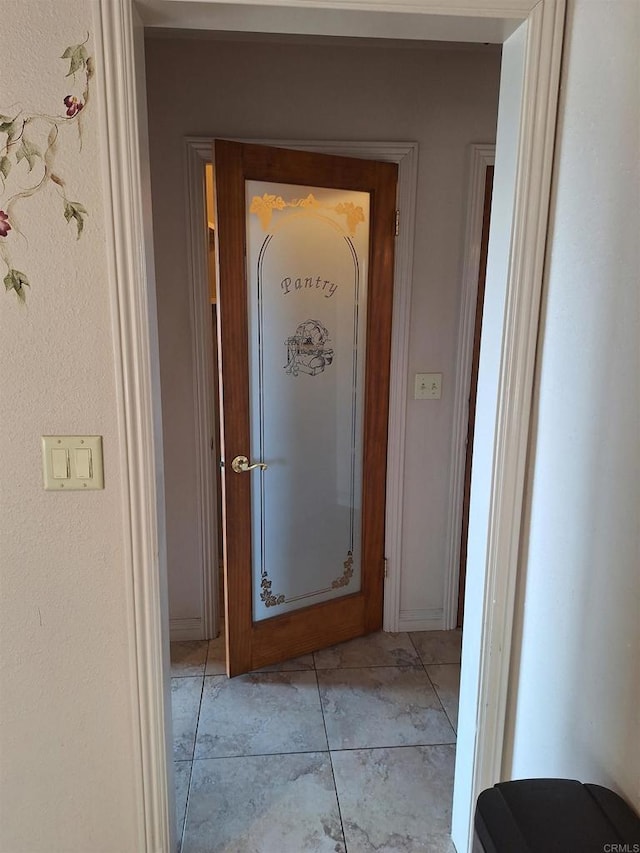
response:
[[[101,435],[43,435],[42,469],[47,491],[104,489]]]

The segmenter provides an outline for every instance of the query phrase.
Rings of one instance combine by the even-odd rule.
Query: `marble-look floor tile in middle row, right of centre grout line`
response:
[[[330,749],[455,741],[422,667],[328,669],[317,675]]]

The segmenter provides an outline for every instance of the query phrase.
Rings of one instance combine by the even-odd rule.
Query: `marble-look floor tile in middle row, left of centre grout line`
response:
[[[315,672],[205,678],[196,758],[326,749]]]

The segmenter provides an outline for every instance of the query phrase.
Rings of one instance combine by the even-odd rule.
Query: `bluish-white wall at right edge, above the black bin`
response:
[[[636,0],[570,4],[505,767],[636,807],[639,41]]]

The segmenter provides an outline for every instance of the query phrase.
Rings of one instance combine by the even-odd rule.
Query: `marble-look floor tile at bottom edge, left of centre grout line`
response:
[[[183,853],[345,853],[328,752],[194,761]]]

